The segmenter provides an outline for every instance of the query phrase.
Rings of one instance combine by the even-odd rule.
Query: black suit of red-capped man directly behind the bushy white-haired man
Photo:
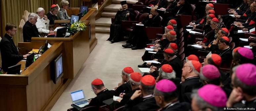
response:
[[[161,62],[161,64],[151,63],[151,65],[157,67],[157,69],[159,69],[164,64],[171,65],[172,69],[176,72],[176,78],[181,78],[181,73],[182,73],[181,69],[182,69],[183,64],[182,64],[182,62],[181,62],[179,57],[175,56],[170,61],[163,60]],[[159,73],[159,71],[156,70],[156,71],[152,72],[151,75],[153,77],[157,78],[158,77],[158,73]]]

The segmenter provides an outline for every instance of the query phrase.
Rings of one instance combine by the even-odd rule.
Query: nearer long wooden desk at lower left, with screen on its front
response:
[[[44,42],[19,43],[26,48],[38,48]],[[55,42],[42,56],[32,63],[21,75],[0,75],[0,111],[39,111],[50,110],[61,96],[71,79],[53,83],[50,64],[61,53],[64,43]],[[24,62],[21,61],[22,64]],[[63,64],[64,69],[67,64]],[[24,67],[24,66],[23,66]],[[67,72],[64,71],[64,74]]]

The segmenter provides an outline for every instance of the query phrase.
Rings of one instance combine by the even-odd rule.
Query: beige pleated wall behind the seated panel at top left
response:
[[[23,12],[27,10],[28,12],[36,12],[36,9],[42,7],[45,9],[45,14],[50,10],[51,5],[54,0],[0,0],[0,36],[5,34],[6,23],[14,23],[17,26],[17,34],[13,37],[14,43],[18,45],[21,41],[21,31],[19,30],[20,21]],[[61,0],[55,0],[60,3]],[[79,7],[80,0],[68,0],[70,7]],[[1,34],[2,33],[2,34]]]

